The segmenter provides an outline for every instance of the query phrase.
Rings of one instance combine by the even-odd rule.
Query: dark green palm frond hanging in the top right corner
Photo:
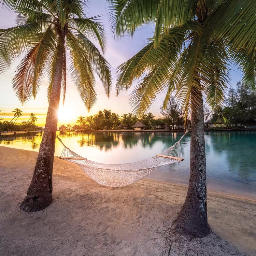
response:
[[[218,1],[205,23],[205,31],[226,47],[250,54],[256,52],[256,1]]]

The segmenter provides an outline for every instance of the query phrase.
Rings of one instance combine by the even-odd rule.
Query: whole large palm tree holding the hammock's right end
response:
[[[207,218],[203,97],[214,108],[224,100],[229,60],[255,89],[256,1],[251,0],[108,0],[116,37],[144,24],[155,24],[154,37],[117,69],[117,95],[138,85],[130,103],[138,114],[165,92],[172,93],[185,119],[191,117],[190,179],[174,228],[195,237],[210,232]],[[145,75],[146,73],[146,75]]]

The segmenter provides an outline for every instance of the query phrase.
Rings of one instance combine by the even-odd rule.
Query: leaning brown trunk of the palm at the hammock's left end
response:
[[[62,40],[61,36],[60,40]],[[39,149],[37,163],[35,165],[32,181],[27,191],[27,196],[20,205],[20,208],[26,212],[40,211],[52,202],[52,174],[55,136],[58,123],[62,66],[64,61],[63,55],[65,53],[62,45],[63,40],[58,46],[52,93],[49,101],[45,130]]]

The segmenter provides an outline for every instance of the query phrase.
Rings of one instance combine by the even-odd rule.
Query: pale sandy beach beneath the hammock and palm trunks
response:
[[[19,209],[38,153],[0,146],[0,255],[256,255],[256,201],[208,191],[212,233],[173,234],[186,186],[143,179],[103,187],[78,166],[55,158],[53,202]]]

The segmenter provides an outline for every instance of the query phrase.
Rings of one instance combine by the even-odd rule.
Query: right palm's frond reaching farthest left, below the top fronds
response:
[[[200,25],[196,22],[185,24],[182,28],[176,27],[163,31],[161,40],[157,47],[154,40],[150,42],[131,59],[117,68],[116,93],[127,90],[135,80],[138,80],[147,71],[150,71],[159,61],[168,59],[169,63],[175,62],[181,53],[186,35],[198,33]],[[170,65],[170,64],[168,64]]]

